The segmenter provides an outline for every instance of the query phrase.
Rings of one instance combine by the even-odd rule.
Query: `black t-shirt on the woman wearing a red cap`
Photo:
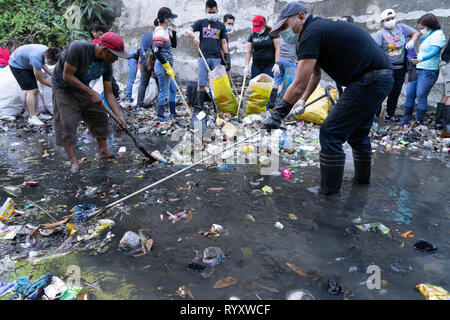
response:
[[[257,66],[271,66],[275,63],[275,45],[273,39],[279,36],[271,36],[269,30],[262,34],[253,32],[248,42],[253,44],[253,63]]]

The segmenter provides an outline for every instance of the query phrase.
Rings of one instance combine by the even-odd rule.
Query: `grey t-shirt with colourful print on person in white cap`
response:
[[[405,30],[405,32],[403,32]],[[406,37],[405,37],[406,33]],[[389,57],[394,69],[401,69],[405,63],[405,44],[407,37],[414,33],[414,29],[403,23],[397,23],[392,30],[382,28],[372,37]]]

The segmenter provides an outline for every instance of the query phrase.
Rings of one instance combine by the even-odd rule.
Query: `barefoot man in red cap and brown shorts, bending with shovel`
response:
[[[106,146],[108,118],[102,97],[89,87],[89,82],[103,77],[105,99],[114,114],[125,124],[112,92],[112,66],[118,58],[128,58],[122,37],[107,32],[97,44],[75,41],[64,50],[52,78],[55,138],[70,158],[72,172],[79,171],[75,156],[76,132],[83,120],[97,139],[100,159],[114,157]]]

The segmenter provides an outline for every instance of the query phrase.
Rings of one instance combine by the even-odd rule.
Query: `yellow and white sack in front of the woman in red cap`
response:
[[[266,112],[266,105],[269,102],[272,88],[273,78],[267,74],[260,74],[250,80],[250,84],[245,93],[244,108],[246,117],[252,114]]]

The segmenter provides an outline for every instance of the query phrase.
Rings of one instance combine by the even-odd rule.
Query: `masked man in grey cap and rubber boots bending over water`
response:
[[[369,132],[378,106],[387,97],[394,79],[392,64],[383,50],[361,27],[344,21],[314,17],[300,2],[285,5],[272,34],[299,37],[298,66],[293,83],[262,129],[279,129],[288,115],[305,111],[305,101],[317,88],[323,69],[346,87],[320,128],[320,172],[323,195],[340,191],[346,141],[353,149],[354,181],[369,184],[372,147]]]

